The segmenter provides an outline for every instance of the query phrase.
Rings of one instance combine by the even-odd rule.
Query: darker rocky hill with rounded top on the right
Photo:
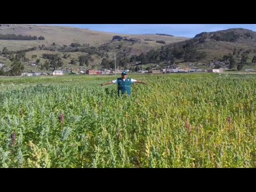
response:
[[[234,28],[228,30],[220,30],[215,32],[197,34],[194,38],[187,41],[173,43],[167,46],[184,46],[193,44],[197,51],[205,51],[206,59],[202,62],[211,60],[219,60],[223,55],[229,53],[237,58],[243,53],[252,59],[256,54],[256,32],[248,29]]]

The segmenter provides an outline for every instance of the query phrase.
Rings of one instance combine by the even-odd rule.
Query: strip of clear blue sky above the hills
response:
[[[245,28],[256,31],[256,24],[45,24],[86,28],[118,34],[164,33],[179,37],[194,37],[204,31],[217,31],[229,28]]]

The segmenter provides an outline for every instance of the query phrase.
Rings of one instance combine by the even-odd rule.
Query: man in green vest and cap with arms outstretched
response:
[[[108,82],[108,83],[103,83],[101,84],[101,86],[103,85],[109,85],[109,84],[116,84],[117,83],[117,94],[119,96],[119,92],[121,91],[122,94],[124,94],[125,92],[130,96],[131,95],[131,84],[132,83],[142,83],[147,85],[146,83],[143,83],[141,81],[132,79],[132,78],[127,78],[127,73],[126,71],[122,72],[122,77],[121,78],[117,78],[114,81]]]

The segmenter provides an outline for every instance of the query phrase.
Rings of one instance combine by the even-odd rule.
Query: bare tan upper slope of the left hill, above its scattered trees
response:
[[[100,31],[92,31],[88,29],[80,29],[74,27],[61,27],[61,26],[41,26],[41,25],[9,25],[0,26],[0,34],[15,34],[15,35],[31,35],[43,36],[44,41],[10,41],[0,40],[0,50],[3,47],[12,51],[21,49],[28,49],[34,46],[42,45],[50,46],[52,43],[57,45],[70,45],[71,43],[90,44],[91,46],[99,46],[103,43],[108,43],[112,40],[113,36],[128,36],[130,38],[139,38],[142,42],[148,43],[146,45],[152,47],[159,47],[159,43],[155,41],[165,41],[166,43],[175,43],[184,41],[188,38],[185,37],[172,37],[163,35],[122,35],[114,33],[104,33]],[[153,40],[153,42],[145,41],[145,39]]]

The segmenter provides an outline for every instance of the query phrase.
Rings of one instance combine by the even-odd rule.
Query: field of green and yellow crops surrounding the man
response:
[[[256,75],[0,78],[0,167],[256,167]]]

